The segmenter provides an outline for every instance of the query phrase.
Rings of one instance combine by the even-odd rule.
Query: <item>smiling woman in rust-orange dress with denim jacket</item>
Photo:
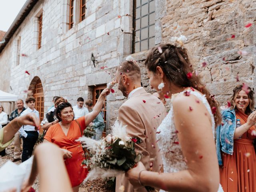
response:
[[[222,166],[220,184],[224,192],[256,192],[256,112],[254,94],[247,86],[237,86],[231,97],[231,107],[222,112],[222,126],[217,129],[217,151],[220,141]],[[236,128],[237,120],[241,126]],[[233,150],[232,150],[233,148]],[[219,162],[221,162],[219,160]]]

